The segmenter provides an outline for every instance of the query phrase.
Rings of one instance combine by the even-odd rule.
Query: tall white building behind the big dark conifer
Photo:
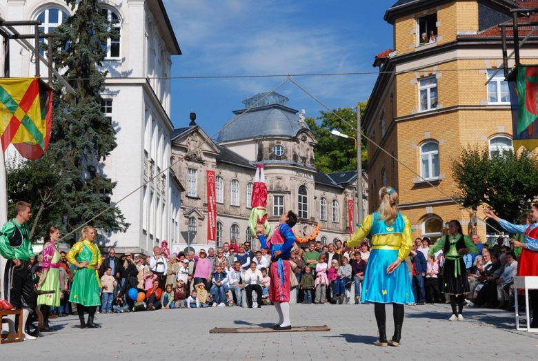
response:
[[[162,0],[105,0],[102,8],[117,19],[120,39],[108,41],[103,68],[108,70],[101,109],[117,129],[117,148],[102,172],[117,182],[111,202],[117,202],[170,166],[170,67],[172,55],[181,55]],[[52,32],[72,14],[61,0],[0,0],[0,16],[8,21],[41,20],[41,30]],[[30,27],[18,27],[33,33]],[[3,57],[2,57],[3,58]],[[10,41],[9,76],[34,76],[34,56]],[[3,68],[3,66],[2,66]],[[41,64],[46,77],[46,64]],[[121,78],[121,79],[119,79]],[[101,246],[124,251],[148,251],[162,240],[179,237],[179,193],[174,173],[164,172],[127,197],[118,206],[130,227],[112,233]]]

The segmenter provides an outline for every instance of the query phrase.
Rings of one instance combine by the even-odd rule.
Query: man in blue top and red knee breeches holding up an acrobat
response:
[[[290,330],[290,257],[291,248],[295,243],[295,234],[292,227],[297,223],[297,215],[292,211],[284,213],[279,218],[280,224],[272,233],[269,240],[266,239],[266,227],[258,224],[256,227],[257,237],[261,248],[270,250],[271,283],[269,298],[275,305],[279,314],[279,322],[272,326],[275,330]]]

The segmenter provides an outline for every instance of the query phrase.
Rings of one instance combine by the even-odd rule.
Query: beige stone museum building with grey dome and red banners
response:
[[[190,240],[195,248],[221,246],[232,238],[238,244],[252,241],[248,217],[257,163],[265,166],[268,220],[273,227],[282,213],[292,210],[299,217],[294,228],[299,237],[310,236],[316,224],[321,228],[317,240],[325,244],[349,237],[348,200],[355,204],[357,172],[319,172],[314,166],[317,141],[304,114],[289,108],[288,98],[277,93],[256,104],[263,96],[243,101],[245,108],[233,112],[216,142],[195,121],[172,133],[174,171],[186,186],[181,194],[181,229],[197,232]],[[215,244],[207,237],[207,170],[216,173]],[[365,175],[365,189],[366,184]],[[186,242],[175,243],[172,251],[183,250]]]

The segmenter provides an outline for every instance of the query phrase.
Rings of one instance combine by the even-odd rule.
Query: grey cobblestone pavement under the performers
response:
[[[292,304],[292,324],[329,332],[210,334],[213,327],[270,326],[276,312],[239,307],[96,315],[101,329],[79,329],[77,316],[51,320],[58,328],[37,340],[1,344],[1,360],[531,360],[538,334],[515,331],[507,311],[465,309],[449,322],[446,304],[407,306],[400,347],[375,347],[372,305]],[[387,306],[392,335],[392,306]]]

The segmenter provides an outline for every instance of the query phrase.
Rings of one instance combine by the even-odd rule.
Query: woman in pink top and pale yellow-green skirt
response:
[[[37,284],[37,293],[43,291],[54,291],[54,293],[43,293],[37,296],[37,304],[43,313],[43,327],[41,331],[52,331],[48,326],[48,315],[50,307],[60,306],[60,253],[56,242],[60,239],[60,229],[57,226],[48,228],[45,237],[45,245],[43,246],[43,273]]]

